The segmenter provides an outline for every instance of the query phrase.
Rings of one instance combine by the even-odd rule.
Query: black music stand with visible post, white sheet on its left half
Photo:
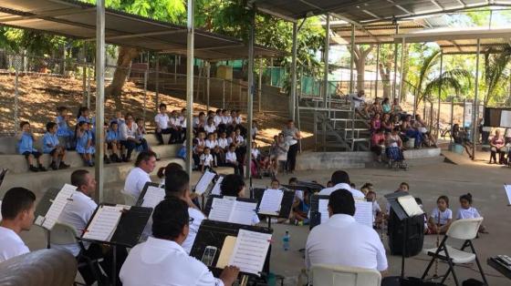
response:
[[[94,210],[94,213],[90,217],[89,222],[87,223],[87,227],[85,230],[89,229],[90,222],[94,219],[96,216],[96,213],[98,212],[99,207],[101,206],[115,206],[115,204],[100,204],[96,210]],[[86,233],[84,231],[80,237],[78,237],[78,240],[82,241],[88,241],[92,243],[99,243],[99,244],[107,244],[112,247],[112,281],[113,285],[116,284],[117,280],[117,247],[125,247],[125,248],[132,248],[137,243],[139,243],[139,240],[141,239],[141,234],[145,228],[145,225],[147,224],[147,221],[151,217],[152,208],[142,208],[142,207],[130,207],[128,210],[124,210],[122,212],[122,215],[120,216],[119,223],[117,224],[117,227],[109,241],[100,241],[100,240],[89,240],[84,239],[83,235]]]

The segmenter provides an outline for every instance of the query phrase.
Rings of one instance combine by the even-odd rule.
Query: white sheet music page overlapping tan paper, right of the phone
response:
[[[242,272],[260,276],[271,237],[269,233],[239,230],[229,265],[238,267]]]

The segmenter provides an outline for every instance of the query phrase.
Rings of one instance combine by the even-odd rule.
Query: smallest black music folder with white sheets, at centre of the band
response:
[[[258,189],[258,188],[253,189],[254,199],[256,199],[258,202],[257,205],[258,213],[260,215],[265,215],[268,217],[289,219],[289,214],[293,209],[293,202],[295,201],[295,191],[280,189],[280,191],[282,191],[282,199],[280,200],[280,203],[278,204],[277,208],[276,206],[272,205],[273,202],[276,201],[275,199],[278,198],[269,198],[273,201],[266,204],[266,201],[264,200],[266,199],[265,198],[266,190],[275,191],[275,189]],[[266,207],[268,207],[268,209],[266,209]]]

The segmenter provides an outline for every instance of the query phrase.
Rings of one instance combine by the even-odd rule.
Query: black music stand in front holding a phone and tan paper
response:
[[[214,221],[214,220],[203,220],[199,231],[197,232],[197,236],[193,241],[193,247],[190,251],[190,256],[194,257],[197,260],[201,260],[203,257],[204,250],[207,246],[216,247],[217,251],[214,256],[214,260],[212,265],[216,265],[218,259],[220,257],[220,253],[222,252],[222,247],[224,246],[224,240],[227,236],[235,236],[237,237],[239,230],[250,230],[262,233],[273,233],[273,230],[257,227],[257,226],[247,226],[243,224],[223,222],[223,221]],[[261,272],[261,276],[267,275],[265,270],[269,273],[269,260],[271,254],[271,245],[266,253],[265,266],[263,267],[263,272]],[[209,267],[209,269],[214,273],[215,277],[218,277],[222,272],[221,269],[215,268],[213,266]],[[240,272],[250,278],[258,279],[259,277],[252,273]]]

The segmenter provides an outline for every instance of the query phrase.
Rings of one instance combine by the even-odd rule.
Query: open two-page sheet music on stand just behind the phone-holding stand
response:
[[[208,220],[252,225],[256,210],[257,202],[253,199],[238,200],[234,197],[214,196],[208,198],[204,212]]]

